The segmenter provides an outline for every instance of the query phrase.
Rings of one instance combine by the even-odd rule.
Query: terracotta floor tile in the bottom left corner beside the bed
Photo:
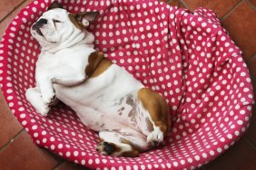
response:
[[[1,169],[52,169],[57,161],[49,153],[34,144],[23,131],[15,140],[0,150]]]

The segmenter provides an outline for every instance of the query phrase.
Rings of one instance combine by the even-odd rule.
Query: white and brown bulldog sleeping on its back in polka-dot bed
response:
[[[99,132],[99,153],[139,156],[163,143],[170,110],[160,94],[94,50],[86,27],[98,14],[71,14],[55,2],[48,7],[31,27],[42,48],[36,86],[25,96],[45,117],[58,100],[74,109],[85,126]]]

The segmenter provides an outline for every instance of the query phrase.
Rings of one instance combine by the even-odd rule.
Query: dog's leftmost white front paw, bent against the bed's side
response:
[[[25,97],[31,103],[34,109],[36,109],[44,117],[47,116],[50,107],[44,104],[41,91],[38,87],[26,90]]]

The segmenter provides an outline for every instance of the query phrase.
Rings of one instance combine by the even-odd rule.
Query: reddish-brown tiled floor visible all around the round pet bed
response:
[[[32,0],[1,0],[0,38],[15,15]],[[171,5],[189,8],[199,6],[214,10],[231,38],[244,52],[253,86],[256,88],[256,1],[255,0],[165,0]],[[254,95],[255,96],[255,95]],[[256,112],[256,107],[254,107]],[[29,135],[8,109],[0,93],[0,169],[82,169],[48,151],[34,146]],[[252,115],[247,134],[223,156],[202,169],[256,169],[256,116]]]

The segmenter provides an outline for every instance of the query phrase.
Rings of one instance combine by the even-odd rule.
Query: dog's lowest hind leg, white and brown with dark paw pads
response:
[[[151,147],[140,135],[131,136],[122,132],[100,131],[99,136],[102,142],[96,150],[103,155],[136,157],[140,152]]]

